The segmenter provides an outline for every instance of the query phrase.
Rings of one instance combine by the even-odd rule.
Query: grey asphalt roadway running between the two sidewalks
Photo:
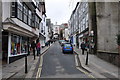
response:
[[[41,78],[90,78],[79,71],[75,63],[76,54],[63,54],[58,42],[43,56]]]

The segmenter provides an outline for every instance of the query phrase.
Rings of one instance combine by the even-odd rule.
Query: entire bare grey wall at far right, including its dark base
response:
[[[96,3],[97,56],[119,65],[116,35],[119,30],[119,6],[117,2]]]

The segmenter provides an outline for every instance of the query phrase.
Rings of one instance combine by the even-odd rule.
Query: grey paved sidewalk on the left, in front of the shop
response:
[[[41,49],[41,53],[44,53],[49,47]],[[13,63],[2,65],[2,78],[25,78],[32,76],[33,69],[39,60],[39,56],[36,56],[34,60],[33,54],[27,57],[28,61],[28,73],[25,74],[25,58],[21,58]],[[32,69],[31,69],[32,68]]]

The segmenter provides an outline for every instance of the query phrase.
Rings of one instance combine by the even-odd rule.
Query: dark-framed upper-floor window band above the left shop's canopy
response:
[[[21,0],[11,3],[11,17],[16,17],[29,26],[35,27],[35,14]],[[39,26],[38,18],[36,18],[36,26]],[[39,27],[38,27],[39,28]]]

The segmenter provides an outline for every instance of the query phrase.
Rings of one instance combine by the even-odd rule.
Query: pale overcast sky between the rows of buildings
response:
[[[52,23],[62,24],[68,22],[71,12],[78,0],[45,0],[47,18]]]

